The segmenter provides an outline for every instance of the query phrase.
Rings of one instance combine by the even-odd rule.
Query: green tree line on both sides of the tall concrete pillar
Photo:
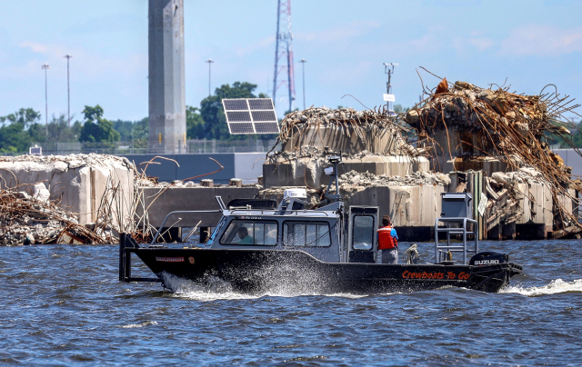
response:
[[[228,133],[223,98],[266,98],[255,94],[256,84],[236,82],[223,84],[215,93],[200,102],[200,107],[186,106],[186,136],[188,139],[246,140],[273,139],[274,134],[256,136]],[[148,139],[148,118],[139,121],[108,120],[99,104],[85,105],[82,121],[70,124],[64,114],[53,115],[48,124],[41,124],[41,114],[33,108],[21,108],[14,114],[0,116],[0,153],[18,154],[32,144],[46,142],[128,142]]]

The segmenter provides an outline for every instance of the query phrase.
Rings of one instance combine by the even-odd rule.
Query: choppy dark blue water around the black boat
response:
[[[579,365],[581,245],[482,243],[524,265],[502,293],[255,297],[119,283],[116,246],[0,248],[0,363]]]

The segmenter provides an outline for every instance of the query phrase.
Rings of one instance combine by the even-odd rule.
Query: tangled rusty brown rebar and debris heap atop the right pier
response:
[[[523,95],[509,93],[507,88],[484,89],[466,82],[449,85],[443,79],[426,104],[408,111],[404,119],[416,129],[418,146],[426,148],[435,161],[437,154],[450,154],[453,158],[459,146],[461,149],[465,146],[467,149],[462,150],[466,153],[461,154],[473,151],[477,152],[475,155],[494,156],[513,170],[531,168],[531,172],[540,175],[537,179],[550,188],[554,202],[558,203],[559,216],[568,218],[557,225],[564,228],[574,217],[571,208],[561,207],[558,196],[577,200],[568,193],[568,188],[580,190],[582,186],[571,181],[571,167],[549,150],[544,136],[554,135],[571,144],[565,126],[576,126],[560,120],[564,120],[563,114],[579,106],[571,104],[572,101],[557,91]],[[448,146],[437,143],[437,134],[447,135]],[[460,137],[457,146],[451,146],[448,140],[454,134]]]

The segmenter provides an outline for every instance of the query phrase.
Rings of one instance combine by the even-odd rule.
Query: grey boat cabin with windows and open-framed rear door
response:
[[[226,207],[205,248],[301,250],[326,263],[376,263],[378,207],[344,203],[307,210],[306,190],[288,189],[273,208],[266,200]],[[231,202],[232,203],[232,202]]]

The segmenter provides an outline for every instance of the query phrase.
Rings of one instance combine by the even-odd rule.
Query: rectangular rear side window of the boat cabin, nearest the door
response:
[[[329,223],[287,221],[283,223],[283,243],[286,246],[330,246]]]

